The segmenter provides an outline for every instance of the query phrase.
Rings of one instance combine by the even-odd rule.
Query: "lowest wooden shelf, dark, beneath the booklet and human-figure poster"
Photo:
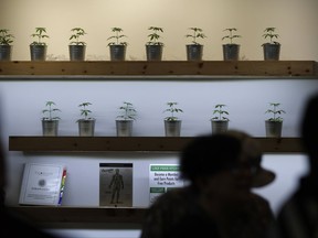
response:
[[[136,223],[144,220],[147,208],[11,206],[9,212],[36,224],[45,223]]]

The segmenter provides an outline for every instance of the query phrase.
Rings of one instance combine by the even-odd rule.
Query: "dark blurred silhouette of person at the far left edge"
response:
[[[32,237],[32,238],[57,238],[53,234],[45,232],[42,229],[38,229],[35,226],[31,225],[26,220],[18,218],[17,214],[11,214],[6,206],[6,158],[3,145],[0,142],[0,218],[1,218],[1,229],[0,237]]]

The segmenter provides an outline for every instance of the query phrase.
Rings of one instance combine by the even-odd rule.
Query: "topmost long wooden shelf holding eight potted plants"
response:
[[[161,76],[160,79],[165,79],[162,76],[171,78],[182,75],[200,77],[315,77],[318,75],[317,68],[317,62],[315,61],[12,61],[0,62],[0,79],[36,79],[36,76],[51,76],[54,79],[56,76],[60,78],[63,76],[76,80],[78,80],[76,76],[98,76],[99,78],[100,76],[104,78],[114,78],[114,76]],[[126,79],[130,78],[127,77]]]

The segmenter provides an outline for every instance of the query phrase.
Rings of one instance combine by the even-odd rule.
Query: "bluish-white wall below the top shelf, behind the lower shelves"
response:
[[[78,105],[91,101],[96,119],[96,136],[115,136],[115,118],[124,100],[131,101],[138,110],[134,136],[163,136],[162,111],[166,102],[174,100],[183,109],[181,136],[210,133],[213,106],[224,102],[229,107],[230,128],[245,130],[254,137],[265,136],[264,120],[268,102],[280,101],[284,115],[283,137],[298,137],[298,121],[309,95],[318,91],[317,79],[234,79],[204,82],[171,80],[86,80],[68,82],[11,82],[0,83],[3,141],[9,136],[41,136],[41,110],[46,100],[53,100],[62,110],[60,136],[77,136]],[[8,152],[8,201],[17,205],[20,193],[22,165],[26,161],[65,163],[68,169],[63,205],[98,206],[99,162],[134,163],[134,206],[147,207],[148,165],[176,163],[178,153],[22,153]],[[266,154],[264,166],[277,174],[275,183],[257,190],[268,198],[276,212],[283,199],[295,188],[297,178],[307,170],[301,154]],[[86,176],[83,176],[86,174]],[[55,231],[55,230],[54,230]],[[59,230],[57,230],[59,231]],[[62,232],[65,230],[62,229]],[[68,230],[75,234],[83,230]],[[92,230],[91,230],[92,231]],[[105,232],[108,232],[105,229]],[[100,231],[98,231],[100,232]],[[82,232],[80,232],[82,234]],[[85,232],[83,232],[85,234]],[[91,232],[92,237],[98,235]],[[120,234],[120,232],[119,232]],[[135,234],[135,235],[134,235]],[[131,237],[137,236],[132,230]],[[96,236],[95,236],[96,235]],[[105,234],[104,234],[105,235]],[[118,235],[120,236],[120,235]],[[76,237],[81,235],[76,234]]]

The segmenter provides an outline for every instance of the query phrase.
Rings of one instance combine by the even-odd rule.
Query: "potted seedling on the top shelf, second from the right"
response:
[[[223,60],[224,61],[237,61],[239,55],[240,55],[240,45],[233,43],[233,39],[241,37],[241,35],[233,33],[237,31],[237,29],[235,28],[225,29],[224,31],[226,31],[227,34],[222,37],[222,41],[230,40],[230,43],[222,45],[223,46]]]

